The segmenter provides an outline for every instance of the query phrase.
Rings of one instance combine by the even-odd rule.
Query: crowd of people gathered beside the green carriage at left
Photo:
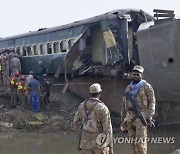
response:
[[[30,71],[28,75],[22,75],[19,55],[14,51],[9,54],[0,51],[0,86],[10,91],[11,108],[19,105],[22,109],[27,107],[38,112],[40,110],[40,94],[43,94],[46,109],[49,109],[52,83],[47,77],[47,70],[42,61],[39,61],[39,65],[41,69],[38,74]]]

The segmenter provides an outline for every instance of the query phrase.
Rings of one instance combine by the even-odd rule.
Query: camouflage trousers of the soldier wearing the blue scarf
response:
[[[147,154],[147,127],[139,118],[132,122],[127,122],[129,137],[132,139],[132,150],[134,154]]]

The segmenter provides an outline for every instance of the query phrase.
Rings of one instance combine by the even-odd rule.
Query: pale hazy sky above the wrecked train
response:
[[[174,10],[180,17],[179,0],[1,0],[0,37],[39,28],[55,27],[116,9]]]

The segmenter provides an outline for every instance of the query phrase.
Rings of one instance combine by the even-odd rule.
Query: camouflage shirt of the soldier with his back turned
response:
[[[90,98],[79,105],[73,126],[81,135],[80,149],[98,148],[96,139],[101,133],[109,135],[110,140],[107,146],[113,146],[110,112],[107,106],[99,99]]]

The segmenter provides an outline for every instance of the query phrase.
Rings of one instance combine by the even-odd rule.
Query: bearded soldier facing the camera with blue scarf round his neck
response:
[[[133,68],[133,79],[127,86],[126,92],[130,92],[132,98],[137,100],[140,112],[144,119],[147,120],[147,126],[151,127],[156,101],[152,86],[142,79],[143,71],[144,68],[140,65]],[[132,149],[134,154],[147,154],[147,126],[137,116],[133,104],[127,99],[124,99],[121,120],[121,130],[127,129],[129,137],[133,139]]]

